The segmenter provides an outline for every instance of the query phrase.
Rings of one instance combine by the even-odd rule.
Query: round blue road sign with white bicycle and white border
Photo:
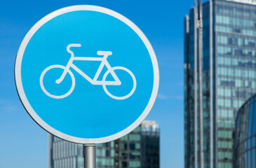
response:
[[[56,10],[29,30],[15,62],[23,106],[44,130],[80,144],[133,131],[159,89],[159,66],[142,31],[99,6]]]

